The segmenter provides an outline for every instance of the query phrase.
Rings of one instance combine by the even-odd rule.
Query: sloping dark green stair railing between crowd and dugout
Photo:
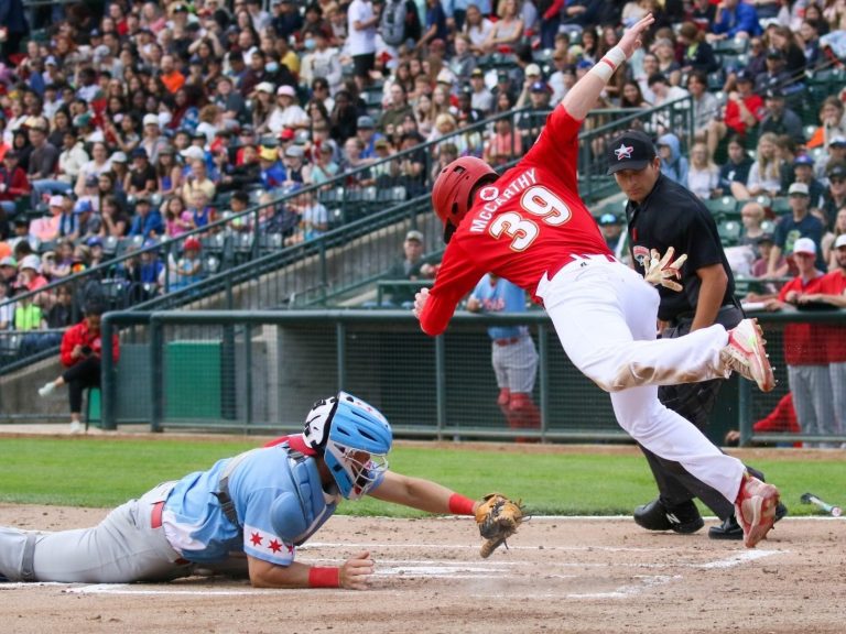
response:
[[[605,118],[611,118],[612,121],[597,123],[581,135],[579,183],[582,196],[587,201],[609,193],[609,189],[616,190],[614,181],[605,175],[605,144],[615,132],[639,121],[652,121],[657,117],[679,125],[677,130],[690,129],[688,99],[655,109],[623,112],[626,113],[622,117],[619,117],[619,110],[592,112],[588,121],[600,122]],[[224,294],[225,299],[223,303],[216,303],[216,308],[237,306],[257,309],[302,306],[312,304],[315,299],[338,296],[338,292],[343,295],[347,289],[376,281],[395,255],[393,251],[382,250],[378,256],[367,259],[367,250],[361,244],[358,249],[341,248],[356,239],[376,244],[378,238],[384,236],[378,233],[379,230],[394,237],[397,245],[401,243],[401,233],[406,228],[421,228],[429,238],[436,236],[438,230],[434,215],[427,212],[429,189],[435,176],[433,165],[436,156],[446,143],[460,145],[467,153],[480,153],[482,132],[500,120],[509,120],[514,130],[522,130],[527,139],[534,140],[545,121],[545,113],[525,109],[492,117],[437,141],[343,174],[324,184],[288,193],[240,214],[224,214],[223,218],[208,227],[193,230],[177,239],[164,240],[149,247],[143,247],[139,241],[130,245],[124,253],[89,271],[53,282],[36,292],[19,295],[2,304],[26,297],[34,298],[42,293],[54,293],[64,285],[70,285],[75,294],[78,294],[78,289],[90,281],[104,283],[107,306],[117,310],[174,308],[219,293]],[[402,164],[411,158],[424,162],[422,179],[413,181],[402,173]],[[512,156],[501,167],[506,168],[517,160],[519,156]],[[371,182],[373,184],[370,184]],[[413,196],[414,193],[419,195]],[[409,196],[412,198],[406,200]],[[311,229],[299,226],[299,218],[304,209],[317,204],[326,208],[328,223],[335,229],[324,233],[318,231],[316,233],[319,234],[312,236],[308,233]],[[392,223],[404,219],[408,219],[408,225],[395,230],[389,229]],[[372,236],[368,238],[368,233]],[[198,237],[203,243],[205,277],[188,286],[176,288],[178,278],[166,264],[180,256],[182,244],[189,237]],[[432,239],[427,250],[436,248],[438,245]],[[143,259],[158,259],[159,255],[165,263],[161,288],[150,289],[143,284],[132,282],[126,275],[126,270],[132,263]],[[347,256],[352,258],[352,261],[344,262]],[[330,259],[333,263],[329,263]],[[264,289],[253,287],[246,292],[236,291],[236,287],[245,282],[254,282],[260,275],[292,266],[290,272],[280,272],[271,275],[272,280],[264,280],[268,283]],[[344,271],[345,274],[334,275],[332,269]],[[311,273],[301,276],[304,270]],[[315,271],[319,273],[315,274]],[[359,271],[361,275],[358,280],[346,274]],[[248,303],[245,303],[245,298],[249,298]],[[78,319],[80,302],[76,302],[75,306],[75,318]],[[48,353],[50,351],[41,351],[37,357],[15,358],[0,367],[0,374],[22,368]]]

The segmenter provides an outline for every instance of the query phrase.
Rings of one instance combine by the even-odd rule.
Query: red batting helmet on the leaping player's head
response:
[[[470,195],[478,185],[499,178],[481,158],[462,156],[441,171],[432,188],[432,206],[444,223],[444,242],[449,242],[462,219],[473,206]]]

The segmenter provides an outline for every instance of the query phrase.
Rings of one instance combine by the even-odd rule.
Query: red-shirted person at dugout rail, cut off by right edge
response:
[[[823,302],[836,308],[846,308],[846,234],[838,236],[832,249],[837,269],[820,280],[817,293],[800,295],[800,304]],[[846,434],[846,328],[838,324],[822,324],[820,338],[828,362],[828,378],[834,392],[834,415],[837,434]],[[846,447],[844,447],[846,448]]]

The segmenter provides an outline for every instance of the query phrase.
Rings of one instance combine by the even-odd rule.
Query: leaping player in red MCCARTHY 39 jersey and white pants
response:
[[[578,80],[517,166],[498,176],[484,161],[465,156],[441,172],[432,203],[448,244],[434,286],[416,295],[414,314],[427,335],[440,335],[487,272],[531,293],[571,361],[611,394],[620,426],[735,503],[744,542],[753,547],[772,527],[778,490],[750,477],[739,460],[661,405],[658,385],[726,378],[734,370],[772,390],[760,329],[745,319],[730,331],[715,325],[655,340],[658,292],[615,260],[578,196],[582,121],[653,21],[652,15],[640,20]],[[617,149],[618,156],[632,151]],[[653,258],[647,278],[681,288],[672,278],[684,259],[671,258]]]

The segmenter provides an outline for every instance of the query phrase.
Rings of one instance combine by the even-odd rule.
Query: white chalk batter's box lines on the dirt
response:
[[[333,547],[333,548],[355,548],[356,545],[352,544],[324,544],[325,547]],[[380,548],[384,546],[392,546],[392,545],[380,545],[380,544],[370,544],[369,545],[372,548]],[[405,545],[405,548],[426,548],[426,549],[437,549],[440,545],[436,544],[425,544],[425,545]],[[464,546],[462,548],[474,550],[475,547],[470,546]],[[628,550],[630,553],[637,553],[637,551],[649,551],[650,549],[643,549],[643,548],[617,548],[616,550]],[[673,564],[673,565],[661,565],[661,564],[642,564],[642,565],[615,565],[617,567],[627,567],[627,568],[696,568],[696,569],[725,569],[725,568],[734,568],[736,566],[740,566],[750,561],[755,561],[757,559],[762,559],[764,557],[771,557],[780,554],[787,554],[790,553],[789,550],[740,550],[738,553],[735,553],[728,557],[725,557],[723,559],[717,559],[713,561],[705,561],[701,564],[694,564],[694,562],[685,562],[685,564]],[[319,561],[332,561],[332,562],[341,562],[343,559],[321,559]],[[314,562],[314,561],[312,561]],[[525,566],[532,566],[534,568],[534,564],[527,562],[527,561],[475,561],[471,564],[468,564],[466,561],[455,561],[455,560],[429,560],[429,559],[384,559],[379,560],[378,565],[380,566],[377,569],[377,572],[373,575],[375,580],[379,579],[391,579],[391,578],[403,578],[403,579],[422,579],[422,578],[440,578],[445,580],[485,580],[485,579],[492,579],[492,580],[507,580],[507,579],[513,579],[516,569],[519,569],[520,567]],[[586,567],[603,567],[608,568],[608,564],[555,564],[556,567],[578,567],[578,568],[586,568]],[[519,575],[519,572],[518,572]],[[546,575],[545,576],[549,579],[572,579],[579,577],[577,575],[560,575],[560,573],[553,573],[553,575]],[[673,580],[681,579],[681,575],[633,575],[631,577],[631,581],[628,583],[625,583],[622,586],[619,586],[610,591],[605,592],[587,592],[587,593],[556,593],[556,592],[547,592],[547,593],[538,593],[538,589],[534,588],[531,592],[531,598],[541,598],[543,597],[555,597],[555,598],[566,598],[566,599],[626,599],[633,597],[636,594],[641,594],[643,592],[648,592],[653,588],[658,588],[660,586],[664,586],[666,583],[670,583]],[[259,589],[252,589],[252,588],[245,588],[242,590],[240,589],[214,589],[214,588],[204,588],[204,589],[188,589],[188,588],[178,588],[177,584],[171,583],[171,584],[162,584],[161,587],[151,588],[151,587],[143,587],[143,586],[134,586],[134,584],[124,584],[124,583],[96,583],[96,584],[89,584],[89,586],[73,586],[73,584],[66,584],[66,583],[2,583],[0,584],[0,590],[13,590],[13,589],[24,589],[24,588],[34,588],[39,586],[44,587],[62,587],[64,592],[73,593],[73,594],[121,594],[121,595],[166,595],[166,597],[173,597],[173,595],[198,595],[198,597],[232,597],[232,595],[256,595],[257,592],[261,593],[268,593],[268,592],[279,592],[278,590],[259,590]],[[284,590],[285,593],[291,592],[314,592],[313,590]],[[398,590],[386,590],[386,589],[373,589],[371,592],[378,592],[378,593],[387,593],[391,595],[400,595],[403,594],[402,591]],[[495,597],[509,597],[513,599],[516,597],[514,589],[509,589],[509,592],[485,592],[479,594],[474,594],[474,597],[485,597],[485,598],[495,598]]]

